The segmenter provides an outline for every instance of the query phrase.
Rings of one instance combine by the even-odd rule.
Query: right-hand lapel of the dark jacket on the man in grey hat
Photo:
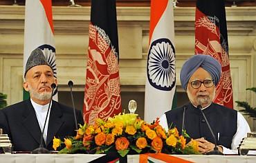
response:
[[[64,120],[62,120],[62,114],[62,109],[57,105],[57,102],[53,100],[48,122],[46,146],[48,146],[48,144],[53,140],[54,135],[56,135],[57,131],[62,127],[62,124],[64,123]]]

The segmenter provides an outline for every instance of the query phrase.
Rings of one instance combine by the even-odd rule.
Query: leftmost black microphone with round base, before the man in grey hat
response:
[[[51,101],[53,100],[53,91],[54,91],[55,87],[56,87],[55,83],[51,84],[52,93],[51,93],[51,100],[50,100],[48,110],[47,110],[47,113],[46,113],[46,120],[48,118],[49,110],[50,110],[50,107],[51,107]],[[44,144],[43,144],[43,138],[44,138],[43,135],[44,135],[44,129],[46,127],[46,120],[44,121],[44,127],[43,127],[43,131],[42,131],[42,134],[41,134],[39,147],[37,149],[34,149],[31,152],[32,154],[50,153],[50,151],[48,149],[44,148]]]

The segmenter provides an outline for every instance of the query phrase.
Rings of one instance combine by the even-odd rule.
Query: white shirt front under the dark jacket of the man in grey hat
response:
[[[37,116],[37,121],[38,121],[39,127],[40,127],[41,131],[43,131],[44,122],[46,120],[47,109],[48,109],[48,106],[50,105],[50,103],[48,103],[46,105],[39,105],[36,102],[34,102],[31,98],[30,98],[30,100],[35,109],[35,115]],[[52,104],[52,102],[51,102],[51,104]],[[50,106],[48,114],[50,114],[50,113],[51,113],[51,106]],[[46,143],[46,138],[47,138],[49,117],[50,117],[50,115],[48,115],[48,118],[46,120],[46,127],[44,129],[44,134],[43,134],[45,143]]]

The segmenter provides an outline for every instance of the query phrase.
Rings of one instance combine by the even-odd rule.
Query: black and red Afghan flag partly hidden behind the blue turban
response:
[[[221,63],[221,80],[216,88],[214,102],[233,108],[226,11],[223,0],[196,2],[195,54],[210,55]]]

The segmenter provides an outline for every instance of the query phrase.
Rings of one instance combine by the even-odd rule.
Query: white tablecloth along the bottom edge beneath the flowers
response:
[[[1,154],[0,163],[85,163],[95,160],[102,155],[84,154]],[[185,160],[199,163],[255,163],[256,156],[252,155],[174,155]],[[139,155],[128,155],[129,163],[138,162]],[[103,163],[103,162],[102,162]]]

